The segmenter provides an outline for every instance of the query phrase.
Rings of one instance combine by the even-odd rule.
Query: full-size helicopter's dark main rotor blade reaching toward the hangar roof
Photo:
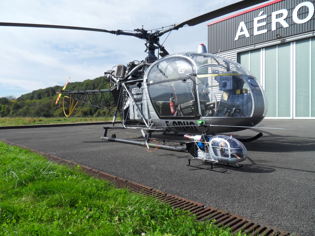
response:
[[[263,3],[263,2],[267,2],[267,0],[243,0],[237,3],[233,3],[231,5],[228,5],[228,6],[222,7],[220,9],[216,9],[214,11],[208,12],[206,14],[197,16],[190,20],[186,20],[180,24],[175,25],[175,28],[181,28],[184,25],[189,25],[189,26],[198,25],[200,23],[203,23],[208,20],[212,20],[219,16],[226,15],[226,14],[229,14],[229,13],[232,13],[232,12],[235,12],[235,11],[247,8],[247,7],[251,7],[256,4]]]

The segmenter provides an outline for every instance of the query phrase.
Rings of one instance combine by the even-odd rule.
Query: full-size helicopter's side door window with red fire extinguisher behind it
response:
[[[159,116],[195,116],[192,65],[183,58],[161,60],[148,73],[149,93]]]

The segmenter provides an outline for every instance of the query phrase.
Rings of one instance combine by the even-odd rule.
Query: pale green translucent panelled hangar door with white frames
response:
[[[238,53],[266,91],[266,118],[315,119],[315,38]]]

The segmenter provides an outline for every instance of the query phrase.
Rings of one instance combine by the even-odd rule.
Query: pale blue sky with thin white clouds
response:
[[[154,30],[239,0],[0,0],[0,22]],[[223,17],[222,17],[223,18]],[[170,53],[207,45],[207,23],[160,37]],[[145,41],[103,32],[0,26],[0,98],[103,76],[113,66],[145,59]]]

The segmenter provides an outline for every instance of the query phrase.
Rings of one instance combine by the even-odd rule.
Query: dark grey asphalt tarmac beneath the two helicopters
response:
[[[186,166],[191,156],[102,141],[104,125],[0,130],[0,138],[301,236],[315,235],[315,120],[264,120],[244,143],[243,167],[219,173]],[[119,125],[117,125],[119,126]],[[259,125],[258,125],[259,126]],[[257,130],[229,133],[249,137]],[[109,130],[143,141],[140,131]],[[172,139],[172,136],[152,134]],[[152,151],[152,149],[151,149]],[[192,161],[192,164],[207,164]],[[215,169],[222,170],[224,166]]]

